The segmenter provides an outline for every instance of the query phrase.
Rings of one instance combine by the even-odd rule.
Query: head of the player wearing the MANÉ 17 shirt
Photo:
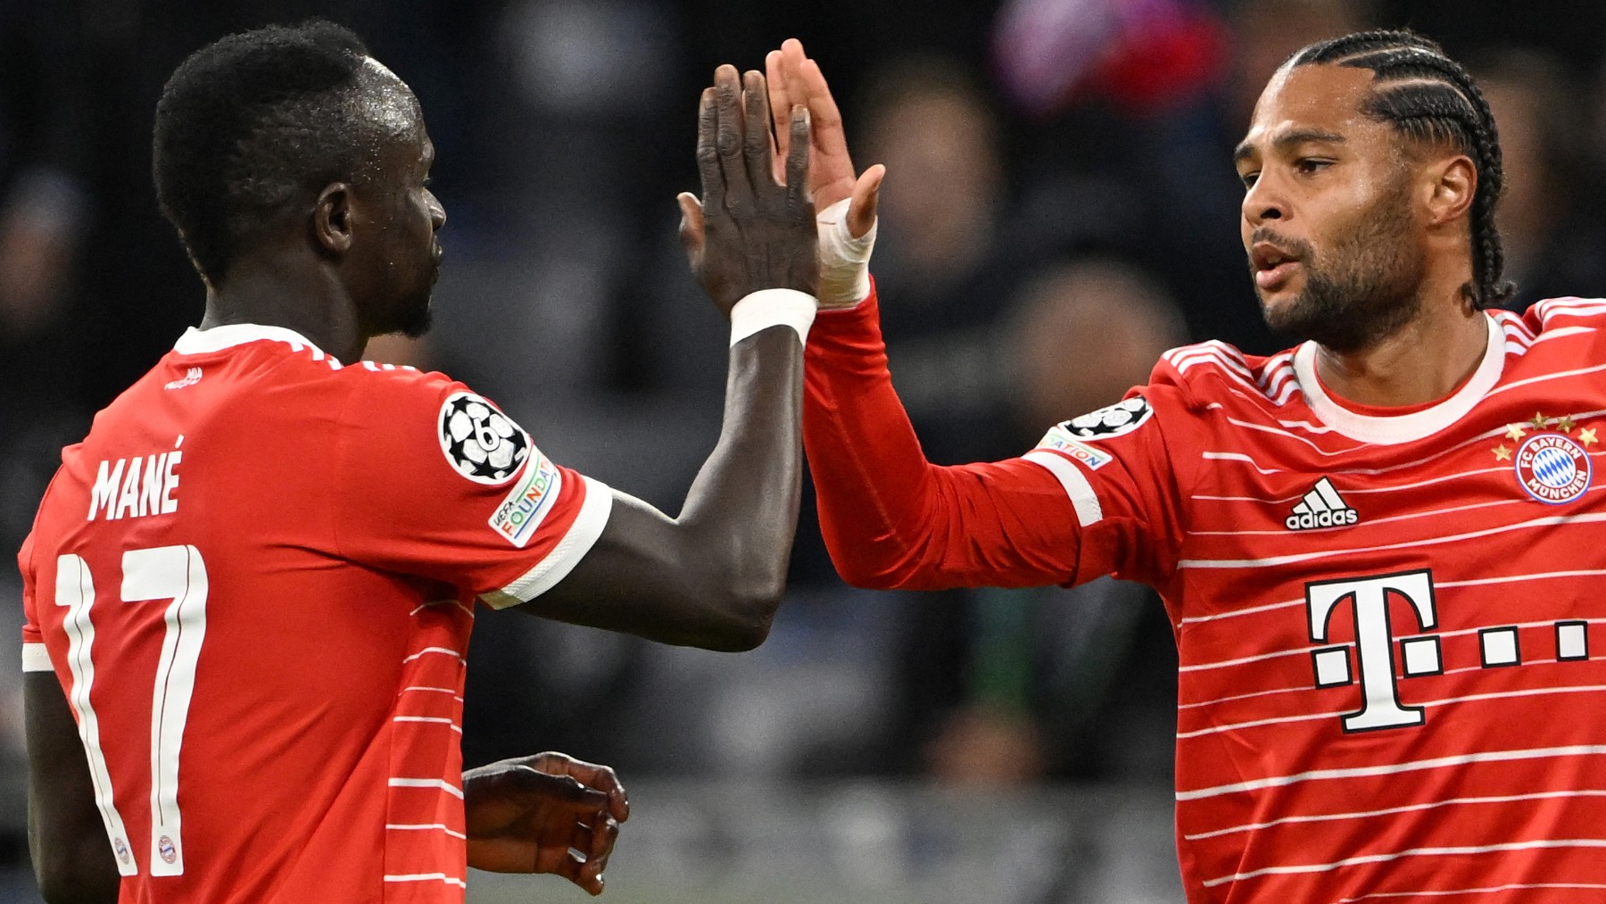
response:
[[[368,334],[429,328],[445,210],[418,98],[326,21],[228,35],[156,108],[162,214],[207,286],[268,246],[331,267]]]

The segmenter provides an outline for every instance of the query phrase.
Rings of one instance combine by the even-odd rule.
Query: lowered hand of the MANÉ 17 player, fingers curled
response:
[[[471,867],[557,873],[589,894],[602,894],[618,824],[630,817],[612,769],[562,753],[469,769],[463,809]]]

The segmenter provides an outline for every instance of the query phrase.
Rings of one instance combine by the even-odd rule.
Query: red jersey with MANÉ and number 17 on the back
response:
[[[21,554],[24,666],[77,716],[120,901],[463,901],[474,602],[551,588],[610,504],[442,374],[185,334]]]

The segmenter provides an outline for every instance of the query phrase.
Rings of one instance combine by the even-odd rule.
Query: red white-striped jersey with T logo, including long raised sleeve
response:
[[[1176,348],[964,467],[919,456],[875,316],[809,334],[832,556],[875,584],[1155,586],[1188,901],[1606,898],[1606,300],[1489,313],[1476,371],[1413,409],[1333,398],[1314,344]]]

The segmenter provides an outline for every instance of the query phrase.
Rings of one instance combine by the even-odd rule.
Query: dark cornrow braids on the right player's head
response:
[[[1376,88],[1365,114],[1416,141],[1450,145],[1473,159],[1473,283],[1463,287],[1474,308],[1505,303],[1516,291],[1502,279],[1505,249],[1495,225],[1505,173],[1500,133],[1478,82],[1444,48],[1408,31],[1370,31],[1312,43],[1290,58],[1290,66],[1349,66],[1372,69]]]

